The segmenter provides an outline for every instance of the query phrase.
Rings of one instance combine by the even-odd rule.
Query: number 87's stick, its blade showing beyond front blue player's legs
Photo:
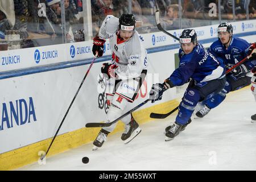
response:
[[[241,60],[239,63],[237,63],[236,65],[234,65],[232,68],[228,69],[228,71],[226,71],[226,74],[228,74],[229,72],[231,72],[234,68],[238,67],[239,65],[241,65],[242,63],[244,63],[246,60],[249,60],[250,57],[253,55],[253,53],[256,53],[256,44],[254,43],[254,49],[253,51],[250,53],[249,56],[245,57],[243,60]],[[150,118],[155,118],[155,119],[164,119],[167,118],[169,115],[171,115],[172,113],[174,113],[174,111],[176,111],[179,108],[179,106],[175,107],[175,109],[171,110],[169,113],[166,114],[159,114],[159,113],[151,113],[150,114]]]

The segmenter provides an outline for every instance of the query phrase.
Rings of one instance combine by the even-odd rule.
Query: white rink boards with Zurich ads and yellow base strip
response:
[[[255,20],[236,22],[233,26],[235,35],[255,42]],[[216,28],[195,28],[199,42],[209,47],[216,40]],[[181,31],[170,32],[179,36]],[[162,32],[142,35],[141,39],[148,49],[150,66],[137,100],[127,110],[146,100],[152,83],[162,82],[175,69],[179,45],[174,39]],[[85,42],[0,52],[0,169],[36,162],[39,152],[47,150],[92,60],[91,45],[92,42]],[[106,55],[110,55],[108,42],[105,50]],[[100,129],[84,126],[87,122],[105,120],[105,98],[100,97],[103,90],[97,80],[101,62],[108,58],[94,63],[49,156],[92,142],[96,137]],[[180,94],[182,89],[168,90],[162,101],[154,105],[148,103],[135,112],[135,119],[143,123],[151,120],[151,111],[167,113],[179,104]],[[114,133],[121,132],[122,128],[120,123]]]

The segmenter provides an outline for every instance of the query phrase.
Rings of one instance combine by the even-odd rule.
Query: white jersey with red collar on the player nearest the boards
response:
[[[147,51],[137,31],[128,41],[118,38],[119,19],[113,15],[106,16],[100,28],[101,39],[108,39],[112,50],[112,63],[118,65],[115,69],[121,80],[135,78],[141,75],[147,67]]]

